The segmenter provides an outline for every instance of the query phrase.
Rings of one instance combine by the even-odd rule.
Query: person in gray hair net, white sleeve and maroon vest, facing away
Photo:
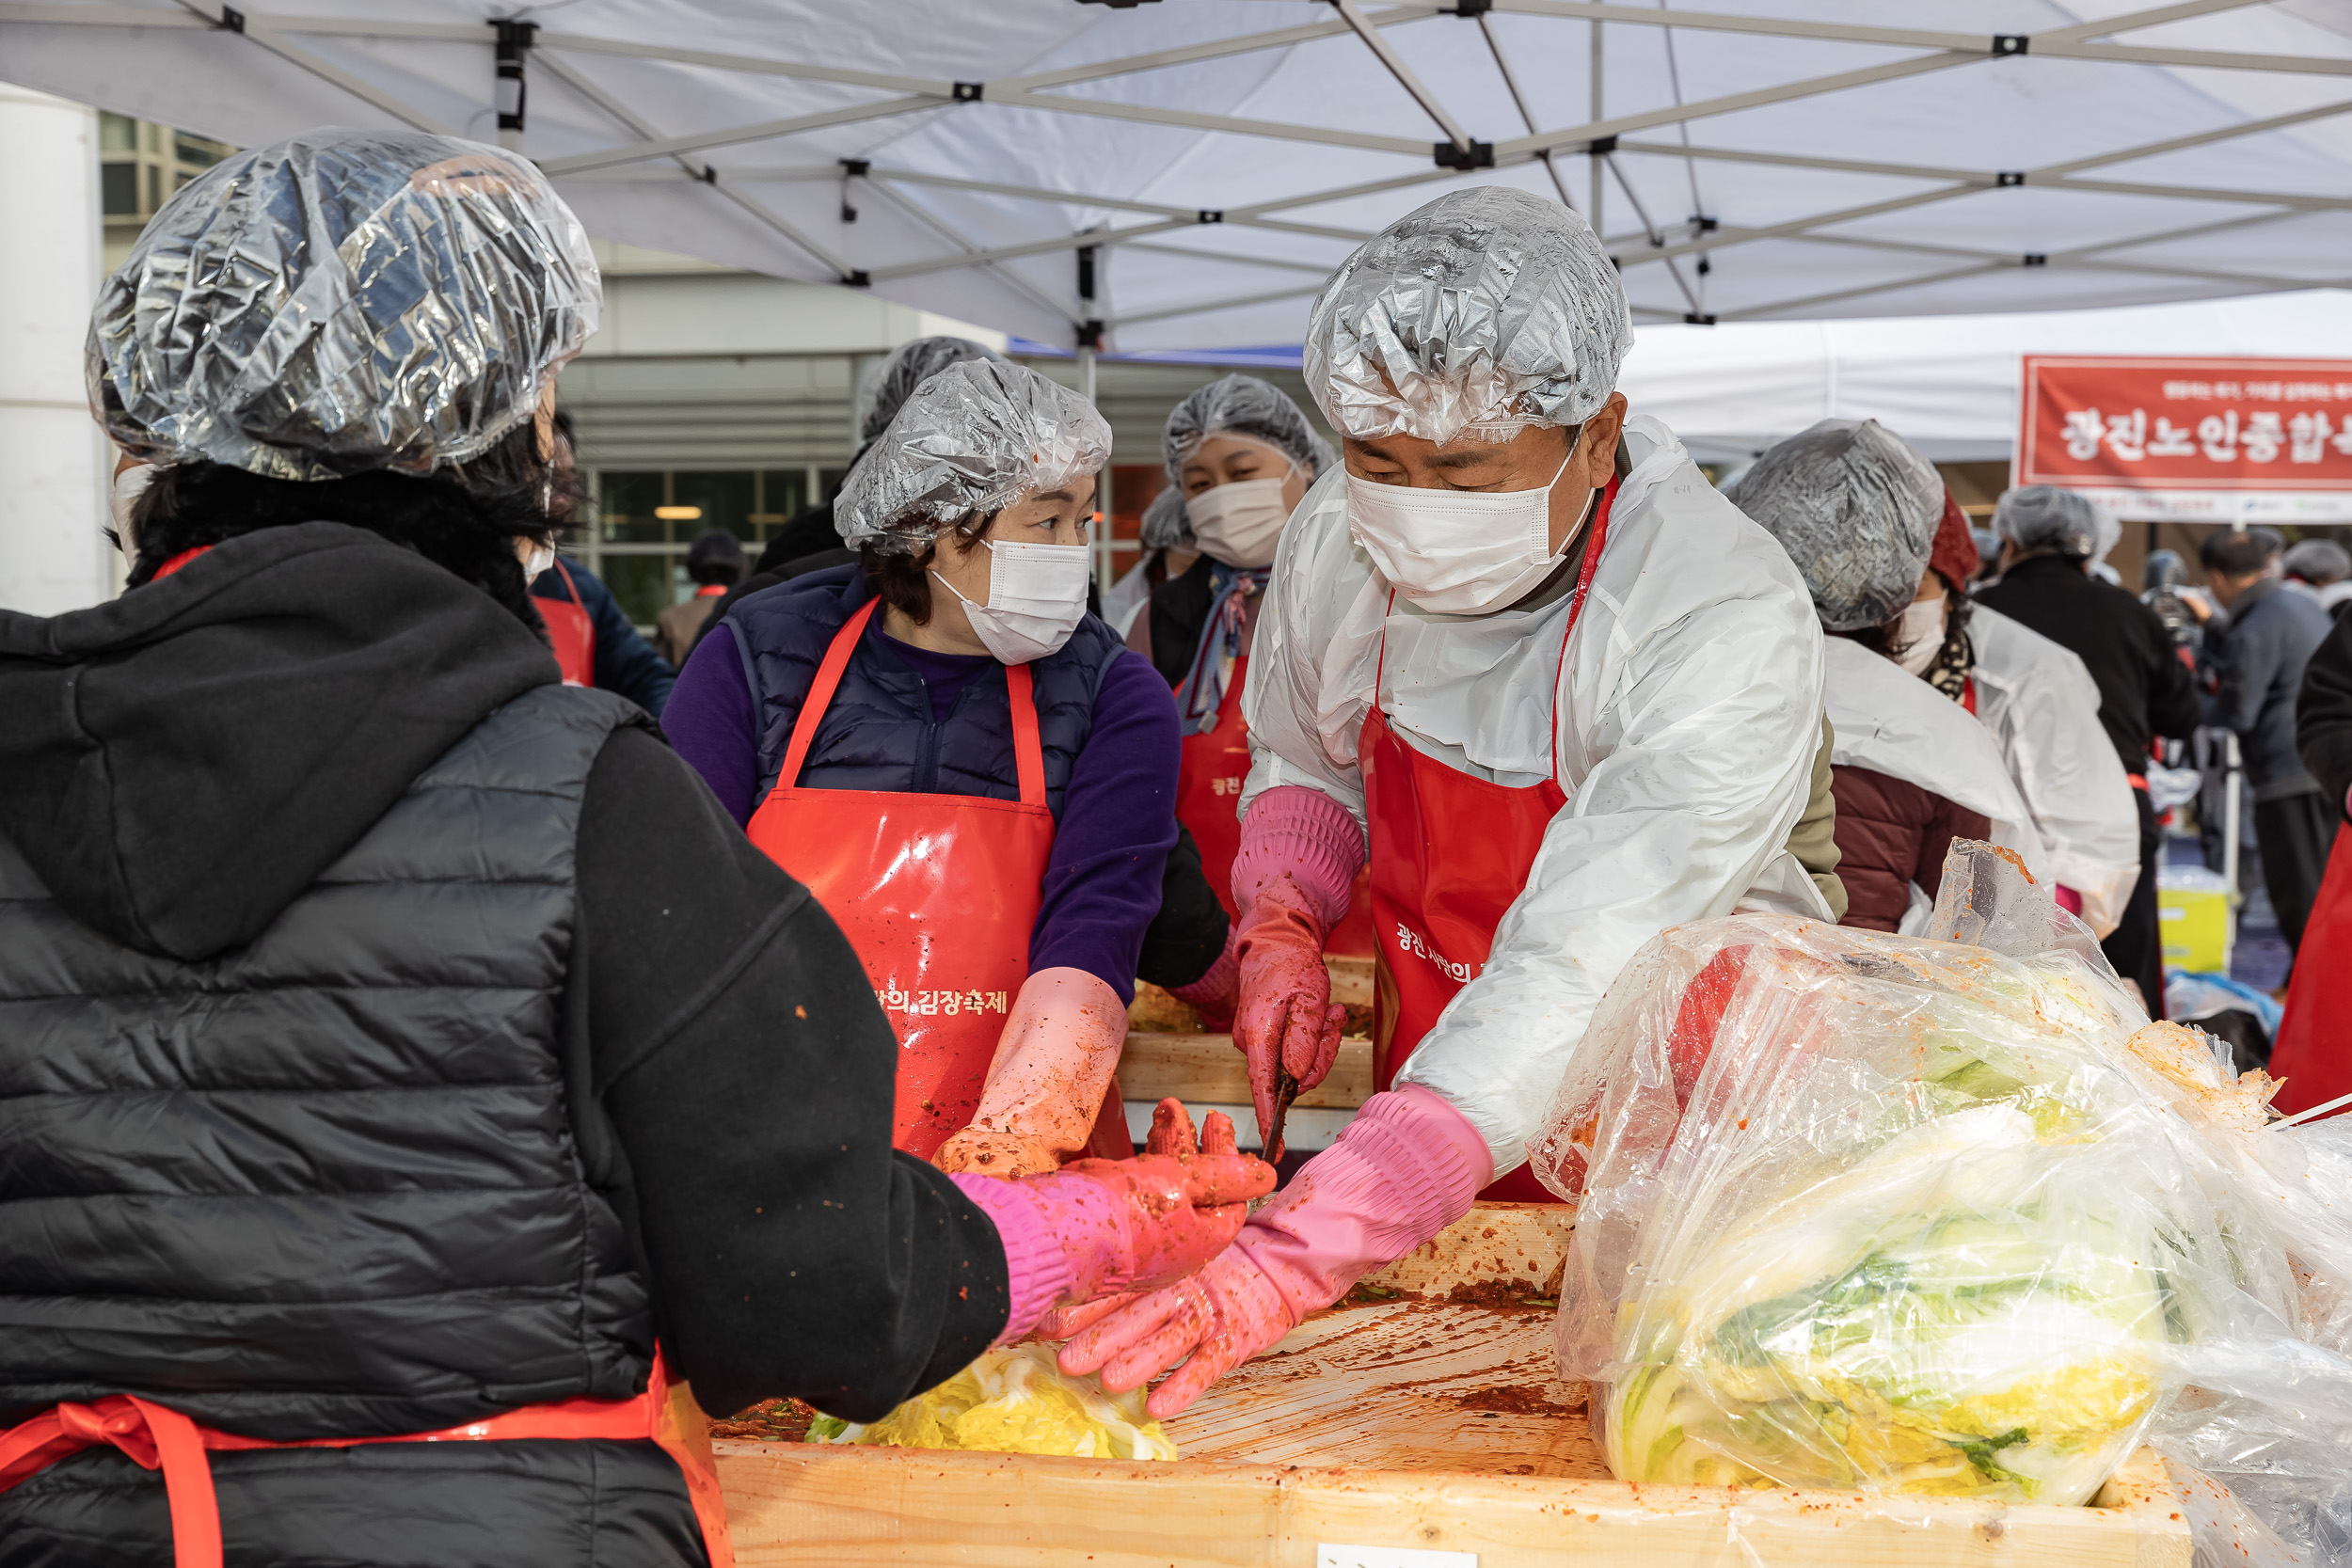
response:
[[[1992,736],[1922,679],[1924,661],[1900,663],[1945,642],[1945,604],[1919,590],[1945,515],[1936,465],[1877,421],[1825,418],[1757,458],[1729,498],[1780,541],[1832,632],[1842,924],[1896,931],[1915,905],[1924,914],[1955,837],[1990,837],[2039,875],[2042,839]],[[1912,623],[1915,599],[1931,623]]]

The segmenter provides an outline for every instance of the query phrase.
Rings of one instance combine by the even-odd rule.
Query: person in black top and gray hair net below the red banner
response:
[[[1976,602],[2082,658],[2098,686],[2098,722],[2124,766],[2140,820],[2140,877],[2100,950],[2114,973],[2140,987],[2147,1011],[2161,1016],[2157,853],[2164,839],[2147,802],[2147,764],[2159,738],[2187,741],[2197,731],[2190,665],[2154,609],[2089,574],[2100,529],[2098,510],[2079,494],[2053,484],[2011,489],[1994,505],[1992,527],[2002,536],[2002,578],[1978,588]]]

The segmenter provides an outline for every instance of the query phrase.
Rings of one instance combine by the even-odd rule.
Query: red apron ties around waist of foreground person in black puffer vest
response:
[[[442,1432],[405,1432],[400,1436],[313,1436],[270,1443],[200,1427],[136,1394],[108,1394],[92,1403],[61,1403],[33,1420],[0,1432],[0,1493],[38,1476],[49,1465],[82,1448],[113,1446],[146,1469],[162,1469],[165,1502],[172,1509],[174,1568],[221,1568],[221,1507],[212,1490],[212,1462],[205,1450],[238,1448],[358,1448],[360,1443],[494,1443],[520,1439],[614,1439],[652,1441],[677,1460],[687,1474],[687,1497],[703,1528],[710,1568],[734,1568],[734,1542],[727,1537],[727,1500],[710,1462],[710,1425],[694,1406],[682,1382],[670,1382],[654,1349],[654,1371],[635,1399],[562,1399],[543,1406],[503,1410],[489,1420],[445,1427]]]

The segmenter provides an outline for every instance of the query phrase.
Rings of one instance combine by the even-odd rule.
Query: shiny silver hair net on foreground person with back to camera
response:
[[[179,190],[89,315],[89,409],[132,456],[275,480],[487,451],[595,331],[588,230],[529,162],[313,132]]]

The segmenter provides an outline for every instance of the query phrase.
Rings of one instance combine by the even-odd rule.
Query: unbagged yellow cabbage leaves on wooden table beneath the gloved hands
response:
[[[1143,1413],[1143,1389],[1105,1394],[1054,1366],[1056,1345],[1011,1345],[908,1399],[870,1425],[821,1415],[811,1443],[1063,1453],[1082,1460],[1174,1460],[1176,1443]]]

